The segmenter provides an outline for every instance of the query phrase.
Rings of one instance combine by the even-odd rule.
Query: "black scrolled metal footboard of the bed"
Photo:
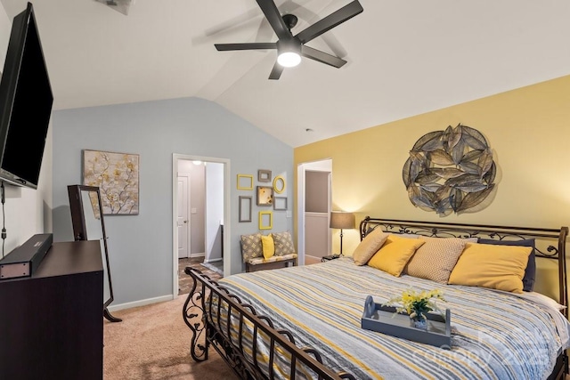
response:
[[[208,360],[212,346],[242,379],[295,379],[308,374],[315,379],[355,380],[347,372],[335,373],[323,365],[314,348],[297,347],[291,332],[274,327],[272,319],[258,315],[251,305],[199,270],[186,267],[184,272],[193,279],[183,305],[183,319],[192,332],[193,360]],[[259,352],[268,352],[266,361],[257,360]]]

